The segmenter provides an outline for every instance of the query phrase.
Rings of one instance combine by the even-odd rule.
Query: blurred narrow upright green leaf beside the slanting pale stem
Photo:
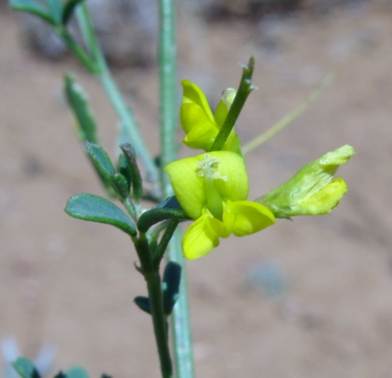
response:
[[[91,110],[88,95],[70,74],[64,77],[68,103],[77,121],[79,140],[98,143],[97,123]]]

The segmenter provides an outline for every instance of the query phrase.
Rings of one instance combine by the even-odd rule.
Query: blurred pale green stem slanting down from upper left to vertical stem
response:
[[[109,101],[111,102],[119,120],[121,127],[127,130],[130,137],[130,143],[134,147],[136,154],[140,157],[146,171],[148,180],[151,182],[153,189],[157,190],[159,186],[159,171],[154,160],[148,153],[148,149],[140,134],[136,120],[132,114],[131,109],[127,106],[122,97],[111,73],[107,67],[105,57],[102,53],[101,47],[91,25],[90,16],[88,14],[87,6],[81,3],[76,8],[76,15],[78,23],[83,34],[86,45],[92,59],[97,67],[95,76],[100,80]],[[82,61],[85,65],[85,62]],[[88,67],[87,67],[88,68]],[[90,70],[91,71],[91,70]]]

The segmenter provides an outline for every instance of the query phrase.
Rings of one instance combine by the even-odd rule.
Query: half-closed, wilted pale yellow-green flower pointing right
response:
[[[294,177],[255,201],[267,206],[277,218],[328,214],[347,191],[342,178],[333,179],[339,165],[355,155],[348,144],[301,168]]]

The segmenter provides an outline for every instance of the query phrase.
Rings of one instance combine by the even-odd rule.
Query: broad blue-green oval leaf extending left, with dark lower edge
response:
[[[111,224],[131,236],[136,236],[133,222],[116,205],[98,195],[82,193],[71,197],[65,208],[71,217]]]

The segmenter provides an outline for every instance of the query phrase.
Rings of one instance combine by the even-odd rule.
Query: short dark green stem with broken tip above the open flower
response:
[[[249,59],[249,63],[243,65],[243,73],[237,94],[234,97],[234,101],[230,106],[230,110],[227,113],[227,116],[218,132],[218,135],[216,135],[216,138],[213,145],[211,146],[210,151],[220,151],[222,149],[227,137],[229,136],[238,119],[238,116],[240,115],[242,108],[244,107],[245,101],[247,100],[250,92],[252,92],[255,88],[252,85],[253,68],[254,57],[252,55]]]

